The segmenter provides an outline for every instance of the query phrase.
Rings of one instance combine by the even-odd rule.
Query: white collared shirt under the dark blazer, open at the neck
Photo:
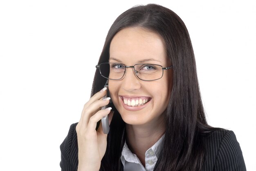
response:
[[[124,166],[124,171],[153,171],[157,158],[159,158],[162,150],[164,135],[150,147],[145,153],[145,167],[139,161],[136,154],[133,154],[128,148],[126,142],[124,143],[121,154],[121,162]]]

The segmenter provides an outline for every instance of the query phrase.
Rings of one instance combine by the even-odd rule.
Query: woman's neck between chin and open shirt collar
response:
[[[145,125],[126,124],[126,143],[145,167],[145,153],[165,132],[164,117]]]

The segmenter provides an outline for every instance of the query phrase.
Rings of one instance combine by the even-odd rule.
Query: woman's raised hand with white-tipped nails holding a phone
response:
[[[76,126],[78,142],[78,171],[99,171],[101,160],[107,148],[107,134],[102,131],[101,124],[96,131],[97,122],[103,116],[109,114],[109,121],[112,120],[113,111],[111,108],[100,110],[107,105],[110,98],[102,100],[106,95],[106,88],[103,88],[84,105],[81,119]]]

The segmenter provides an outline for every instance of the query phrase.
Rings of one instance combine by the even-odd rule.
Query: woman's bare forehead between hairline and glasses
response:
[[[146,60],[150,63],[155,60],[156,64],[168,62],[162,37],[141,27],[125,28],[114,36],[110,43],[110,62],[113,59],[124,64],[135,64]]]

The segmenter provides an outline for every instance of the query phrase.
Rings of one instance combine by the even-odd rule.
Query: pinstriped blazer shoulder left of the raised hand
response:
[[[77,170],[78,166],[78,145],[77,145],[77,134],[76,125],[74,123],[70,126],[67,137],[62,142],[61,149],[61,170],[73,171]]]

